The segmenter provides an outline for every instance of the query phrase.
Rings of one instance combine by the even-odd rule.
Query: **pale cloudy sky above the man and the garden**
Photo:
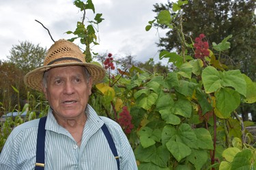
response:
[[[72,2],[1,0],[0,60],[6,60],[12,46],[21,41],[40,44],[47,49],[53,44],[46,29],[35,20],[49,29],[55,41],[70,38],[71,35],[65,32],[74,31],[76,22],[81,21],[83,15]],[[156,16],[152,12],[153,5],[167,3],[167,0],[93,0],[93,3],[96,13],[102,13],[104,18],[99,24],[100,45],[94,46],[94,52],[111,52],[121,57],[131,54],[137,61],[147,61],[149,58],[158,61],[158,33],[156,29],[145,31],[145,26]]]

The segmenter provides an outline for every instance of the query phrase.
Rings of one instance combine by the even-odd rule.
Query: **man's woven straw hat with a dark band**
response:
[[[105,75],[105,70],[102,67],[86,63],[85,55],[81,52],[79,46],[65,39],[59,39],[59,41],[55,41],[55,44],[48,50],[44,58],[44,66],[34,69],[25,75],[25,85],[34,90],[42,91],[42,77],[44,71],[53,67],[68,65],[85,66],[93,78],[94,84],[100,82]]]

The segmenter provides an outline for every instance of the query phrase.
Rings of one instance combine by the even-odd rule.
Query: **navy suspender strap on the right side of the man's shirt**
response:
[[[101,127],[104,135],[106,136],[106,140],[109,142],[109,147],[111,148],[111,151],[113,155],[115,156],[115,160],[117,160],[117,168],[120,169],[120,162],[119,162],[119,156],[117,154],[117,148],[115,148],[115,143],[113,141],[113,138],[111,134],[109,133],[109,129],[106,127],[106,124],[103,124]]]

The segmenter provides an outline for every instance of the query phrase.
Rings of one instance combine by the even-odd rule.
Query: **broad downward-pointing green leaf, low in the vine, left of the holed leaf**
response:
[[[170,140],[166,143],[166,146],[177,162],[191,154],[190,148],[181,142]]]

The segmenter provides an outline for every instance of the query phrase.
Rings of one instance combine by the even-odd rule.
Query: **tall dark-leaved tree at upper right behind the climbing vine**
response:
[[[173,3],[169,1],[165,5],[156,3],[153,11],[158,13],[161,10],[172,10],[172,6]],[[240,69],[252,80],[256,80],[255,7],[255,0],[189,0],[188,4],[184,5],[182,14],[173,20],[176,25],[182,27],[174,27],[168,31],[166,37],[160,38],[158,46],[168,51],[181,51],[180,31],[184,33],[186,41],[191,43],[191,39],[204,33],[208,37],[210,48],[212,43],[220,42],[228,35],[232,35],[231,47],[227,52],[221,52],[218,59],[229,69]],[[175,12],[172,15],[175,15]],[[161,27],[167,29],[165,26]],[[193,54],[193,51],[188,51],[188,54]],[[240,107],[244,120],[248,118],[248,110],[253,112],[252,107]]]

